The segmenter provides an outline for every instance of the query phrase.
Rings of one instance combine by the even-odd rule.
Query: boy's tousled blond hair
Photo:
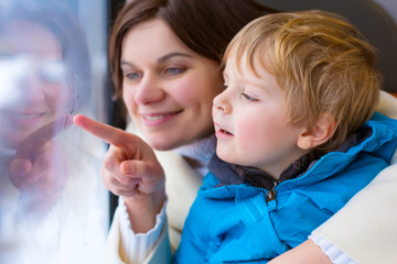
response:
[[[321,113],[335,120],[334,135],[320,148],[334,151],[361,128],[378,102],[380,76],[374,47],[343,18],[319,10],[268,14],[246,25],[230,42],[224,63],[247,58],[248,69],[275,75],[286,94],[291,123],[315,124]]]

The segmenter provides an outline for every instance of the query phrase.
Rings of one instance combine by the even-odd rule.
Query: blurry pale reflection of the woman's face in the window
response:
[[[0,33],[0,139],[15,148],[26,135],[65,114],[61,44],[40,24],[13,21]]]

